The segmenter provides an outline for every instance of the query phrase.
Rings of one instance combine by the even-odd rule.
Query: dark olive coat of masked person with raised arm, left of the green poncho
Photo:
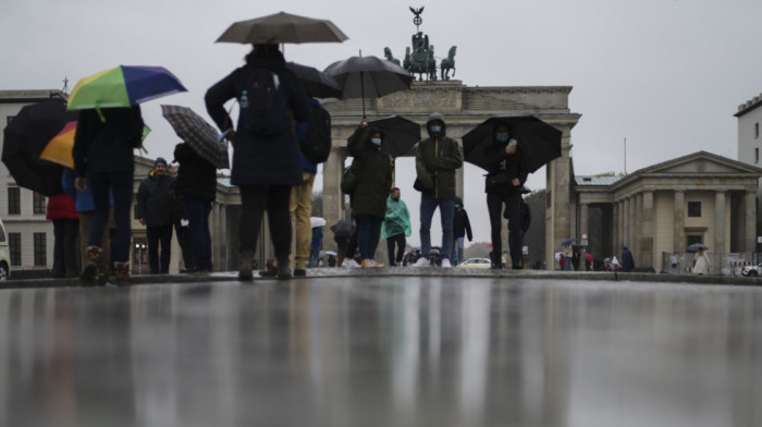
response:
[[[370,142],[371,127],[357,127],[347,141],[346,148],[355,158],[357,186],[352,197],[352,216],[386,216],[386,197],[392,190],[392,161],[388,154]]]

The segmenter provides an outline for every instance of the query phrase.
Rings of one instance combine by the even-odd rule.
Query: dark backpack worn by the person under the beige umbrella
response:
[[[276,135],[292,125],[285,89],[272,70],[254,70],[238,103],[243,126],[255,135]]]

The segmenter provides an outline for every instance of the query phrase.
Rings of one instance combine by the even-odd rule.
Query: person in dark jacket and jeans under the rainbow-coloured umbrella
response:
[[[140,107],[89,109],[79,112],[74,136],[75,186],[93,190],[95,216],[90,224],[85,268],[79,279],[93,283],[98,272],[103,233],[109,221],[109,195],[113,198],[116,230],[112,258],[118,284],[132,282],[130,274],[131,212],[135,162],[133,149],[143,141]]]

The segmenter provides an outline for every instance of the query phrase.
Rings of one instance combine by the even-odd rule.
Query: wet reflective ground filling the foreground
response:
[[[342,277],[0,290],[0,426],[760,426],[762,289]]]

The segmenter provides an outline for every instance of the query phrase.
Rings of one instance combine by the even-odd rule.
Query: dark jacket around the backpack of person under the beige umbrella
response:
[[[233,71],[207,90],[207,111],[218,127],[223,132],[231,127],[224,103],[241,96],[256,69],[275,72],[294,121],[309,122],[307,94],[296,75],[286,69],[283,56],[276,52],[250,57],[246,65]],[[233,185],[300,185],[302,160],[294,130],[284,130],[272,136],[254,135],[242,126],[242,120],[243,117],[239,115],[233,145]]]

